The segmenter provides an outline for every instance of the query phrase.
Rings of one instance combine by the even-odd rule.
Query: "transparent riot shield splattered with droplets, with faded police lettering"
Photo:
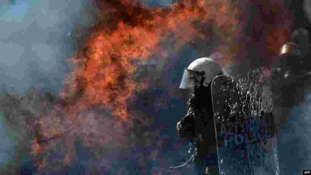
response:
[[[265,69],[232,78],[217,76],[211,86],[221,175],[278,175],[272,93]]]

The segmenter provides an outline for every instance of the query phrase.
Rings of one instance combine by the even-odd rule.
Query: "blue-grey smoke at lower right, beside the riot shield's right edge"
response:
[[[292,108],[287,125],[278,137],[281,174],[298,174],[311,164],[311,94]]]

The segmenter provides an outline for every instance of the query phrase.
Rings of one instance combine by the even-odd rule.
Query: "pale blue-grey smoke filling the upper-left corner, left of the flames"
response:
[[[96,12],[86,13],[95,8],[92,1],[2,1],[0,6],[1,82],[21,94],[30,86],[58,92],[68,71],[64,59],[73,53],[74,25],[95,23]]]

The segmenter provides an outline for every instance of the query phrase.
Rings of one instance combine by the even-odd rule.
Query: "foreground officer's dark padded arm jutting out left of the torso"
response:
[[[195,137],[194,110],[190,108],[187,115],[176,125],[176,131],[179,137],[192,140]]]

